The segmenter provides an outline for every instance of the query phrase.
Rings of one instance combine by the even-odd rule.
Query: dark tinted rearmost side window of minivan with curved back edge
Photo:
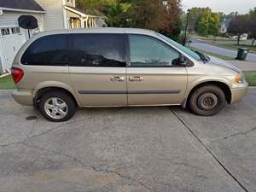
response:
[[[34,41],[21,58],[23,65],[66,66],[67,35],[49,35]]]

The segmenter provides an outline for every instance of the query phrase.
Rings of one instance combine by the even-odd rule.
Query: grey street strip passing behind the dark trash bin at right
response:
[[[199,40],[193,39],[192,41],[193,42],[190,44],[191,47],[206,50],[207,52],[211,52],[218,55],[230,56],[234,59],[236,58],[236,55],[237,55],[236,50],[220,48],[212,44],[207,44],[207,42],[202,40],[199,41]],[[247,61],[256,62],[256,54],[249,53],[247,55]]]

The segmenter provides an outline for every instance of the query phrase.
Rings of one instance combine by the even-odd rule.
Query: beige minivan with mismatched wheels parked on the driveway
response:
[[[210,116],[241,101],[248,87],[229,62],[130,28],[39,33],[16,55],[12,76],[15,101],[55,122],[77,107],[180,105]]]

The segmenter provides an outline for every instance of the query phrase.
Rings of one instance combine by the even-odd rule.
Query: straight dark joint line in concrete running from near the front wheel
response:
[[[181,119],[181,118],[177,115],[177,113],[176,113],[172,108],[171,108],[171,111],[172,111],[172,113],[177,117],[177,119],[184,125],[184,127],[186,128],[186,130],[189,131],[189,132],[195,137],[195,139],[202,145],[202,147],[207,150],[207,153],[212,156],[213,160],[216,160],[216,161],[217,161],[218,165],[221,166],[221,167],[224,169],[224,171],[225,171],[228,175],[230,175],[230,177],[233,178],[233,180],[241,187],[241,189],[243,189],[245,192],[249,192],[248,189],[238,180],[238,178],[236,178],[236,176],[234,176],[234,175],[230,172],[230,170],[229,170],[227,167],[225,167],[224,164],[223,164],[220,160],[218,160],[218,157],[217,157],[215,154],[212,153],[212,151],[210,150],[210,148],[208,148],[207,145],[206,145],[205,143],[203,143],[199,137],[197,137],[197,135],[195,134],[195,132],[192,131],[192,130],[189,128],[189,125],[187,125],[187,124],[183,121],[183,119]],[[253,131],[254,131],[254,129],[253,129]]]

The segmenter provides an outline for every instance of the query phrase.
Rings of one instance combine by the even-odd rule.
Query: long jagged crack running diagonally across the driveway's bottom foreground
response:
[[[148,190],[153,191],[153,192],[157,192],[157,191],[154,190],[152,187],[148,187],[148,185],[146,185],[146,184],[144,184],[144,183],[142,183],[142,182],[137,181],[137,179],[132,178],[132,177],[128,177],[128,176],[125,176],[125,175],[122,175],[121,173],[119,173],[119,172],[117,172],[117,171],[108,170],[108,169],[98,169],[98,168],[96,168],[96,166],[85,165],[85,164],[82,162],[82,160],[79,160],[78,158],[75,158],[75,157],[73,157],[73,156],[70,155],[70,154],[63,154],[63,153],[61,153],[61,152],[56,152],[56,151],[53,151],[53,150],[49,150],[49,149],[42,148],[42,147],[35,146],[35,145],[30,145],[30,144],[27,144],[27,143],[21,143],[21,144],[25,145],[25,146],[28,147],[28,148],[36,148],[36,149],[45,151],[45,152],[47,152],[47,153],[49,153],[49,154],[58,154],[58,155],[67,157],[68,159],[73,160],[74,162],[78,163],[80,166],[83,166],[83,167],[85,167],[85,168],[92,169],[92,170],[95,171],[95,172],[102,172],[102,173],[109,173],[109,172],[112,172],[113,174],[115,174],[115,175],[117,175],[117,176],[119,176],[119,177],[122,177],[122,178],[125,178],[125,179],[128,179],[128,180],[131,180],[131,182],[137,183],[137,184],[143,186],[143,188],[145,188],[145,189],[148,189]]]

